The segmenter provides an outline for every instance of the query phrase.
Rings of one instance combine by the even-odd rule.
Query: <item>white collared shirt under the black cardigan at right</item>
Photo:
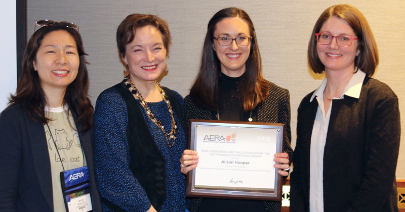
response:
[[[353,74],[349,83],[342,92],[344,95],[354,98],[360,97],[361,86],[366,77],[366,73],[358,70]],[[328,133],[329,120],[331,118],[332,103],[329,105],[328,113],[325,114],[323,105],[323,90],[325,90],[327,79],[312,94],[310,102],[316,97],[318,109],[316,111],[315,122],[312,128],[310,164],[309,164],[309,211],[323,212],[323,151],[325,149],[326,137]]]

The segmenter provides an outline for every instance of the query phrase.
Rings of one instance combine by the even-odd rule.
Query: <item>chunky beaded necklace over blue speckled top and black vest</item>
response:
[[[149,119],[153,123],[155,123],[156,126],[161,129],[161,131],[163,131],[163,133],[165,134],[166,141],[168,142],[169,147],[172,147],[174,145],[175,140],[176,140],[177,125],[176,125],[176,121],[174,120],[172,105],[170,105],[170,101],[168,99],[168,96],[166,95],[163,88],[160,86],[160,84],[158,82],[156,82],[156,86],[159,89],[161,97],[163,98],[163,100],[165,100],[166,104],[168,105],[169,113],[170,113],[170,116],[172,118],[172,124],[171,124],[172,129],[171,129],[170,133],[167,133],[166,130],[165,130],[165,127],[163,126],[163,124],[161,122],[157,121],[157,119],[154,117],[153,113],[150,111],[150,109],[148,107],[148,102],[145,102],[145,99],[142,97],[141,93],[135,87],[134,83],[132,83],[130,75],[128,75],[128,76],[126,76],[124,78],[124,83],[125,83],[125,85],[127,85],[128,89],[131,91],[131,93],[134,94],[141,101],[142,108],[145,109],[146,114],[148,115]],[[170,144],[170,141],[172,139],[173,139],[173,142],[172,142],[172,144]]]

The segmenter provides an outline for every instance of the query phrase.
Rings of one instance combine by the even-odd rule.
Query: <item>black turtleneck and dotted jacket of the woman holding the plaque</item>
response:
[[[223,121],[248,121],[250,112],[245,112],[242,101],[235,93],[238,91],[240,77],[232,78],[224,74],[219,81],[219,107],[220,111],[213,111],[198,108],[190,96],[184,98],[184,117],[188,123],[189,119],[220,120]],[[272,82],[267,81],[270,87],[269,96],[252,111],[254,122],[282,123],[285,124],[286,142],[284,146],[291,158],[293,149],[291,148],[291,113],[290,113],[290,93],[287,89],[281,88]],[[235,199],[215,199],[215,198],[192,198],[188,200],[191,212],[195,211],[269,211],[281,210],[281,202],[278,201],[258,201],[258,200],[235,200]]]

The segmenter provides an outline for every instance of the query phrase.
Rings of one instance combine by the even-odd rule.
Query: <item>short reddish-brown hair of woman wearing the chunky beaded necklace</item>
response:
[[[135,38],[136,29],[148,25],[152,25],[160,31],[163,45],[166,48],[166,57],[169,57],[171,36],[168,23],[155,15],[135,13],[127,16],[127,18],[125,18],[117,28],[116,40],[118,55],[121,60],[125,56],[127,45],[131,43]]]

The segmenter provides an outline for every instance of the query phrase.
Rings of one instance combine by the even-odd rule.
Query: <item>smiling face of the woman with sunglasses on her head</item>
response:
[[[79,64],[76,42],[65,30],[48,33],[42,40],[33,62],[45,91],[66,90],[76,78]]]

